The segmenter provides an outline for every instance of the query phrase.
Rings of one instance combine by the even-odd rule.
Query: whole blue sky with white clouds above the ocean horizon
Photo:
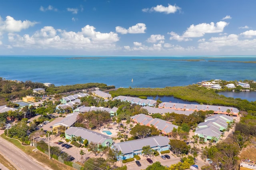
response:
[[[0,55],[255,55],[255,0],[2,0]]]

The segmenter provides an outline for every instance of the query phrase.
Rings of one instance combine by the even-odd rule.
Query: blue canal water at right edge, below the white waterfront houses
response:
[[[233,97],[234,99],[240,98],[240,99],[246,99],[248,101],[256,101],[256,91],[250,91],[250,92],[224,91],[224,92],[219,92],[218,94],[224,95],[226,97]]]

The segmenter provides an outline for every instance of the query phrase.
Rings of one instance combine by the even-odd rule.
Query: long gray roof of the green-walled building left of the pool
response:
[[[106,139],[111,139],[110,136],[82,127],[70,127],[65,131],[65,133],[74,136],[81,136],[83,139],[87,139],[89,142],[97,144],[102,144]]]

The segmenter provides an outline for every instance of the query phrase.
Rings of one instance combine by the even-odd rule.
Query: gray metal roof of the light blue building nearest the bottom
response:
[[[170,140],[167,136],[153,136],[148,138],[142,138],[137,140],[130,140],[126,142],[120,142],[113,144],[123,154],[134,152],[135,150],[142,149],[143,146],[166,146],[169,145]]]

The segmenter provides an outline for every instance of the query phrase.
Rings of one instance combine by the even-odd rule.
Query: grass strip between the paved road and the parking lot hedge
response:
[[[42,153],[39,150],[36,151],[36,152],[33,152],[32,150],[35,148],[34,146],[22,146],[20,141],[18,141],[16,139],[13,139],[13,138],[7,138],[4,134],[1,134],[1,137],[4,138],[5,140],[11,142],[12,144],[17,146],[18,148],[20,148],[28,156],[32,157],[33,159],[37,160],[38,162],[41,162],[42,166],[47,166],[48,169],[52,169],[52,170],[63,170],[63,169],[75,170],[73,167],[62,164],[61,162],[58,162],[54,158],[51,158],[51,160],[49,160],[48,155]],[[0,161],[0,162],[2,163],[2,161]]]

